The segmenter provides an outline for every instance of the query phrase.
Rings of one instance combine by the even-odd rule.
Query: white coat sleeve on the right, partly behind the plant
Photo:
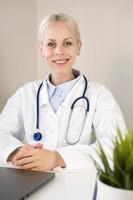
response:
[[[97,96],[92,126],[94,127],[96,138],[102,144],[104,151],[108,155],[109,162],[111,162],[112,139],[117,136],[117,127],[123,134],[126,133],[127,129],[119,105],[112,93],[105,87],[102,87]],[[95,168],[91,157],[97,160],[99,165],[102,165],[96,149],[97,140],[90,145],[76,144],[61,147],[57,151],[66,162],[66,169],[64,170],[88,171]]]

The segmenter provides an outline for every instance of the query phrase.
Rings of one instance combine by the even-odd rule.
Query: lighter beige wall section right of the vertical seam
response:
[[[37,0],[38,27],[48,14],[64,12],[79,23],[82,52],[76,67],[114,93],[133,127],[133,1]],[[38,78],[48,70],[38,54]]]

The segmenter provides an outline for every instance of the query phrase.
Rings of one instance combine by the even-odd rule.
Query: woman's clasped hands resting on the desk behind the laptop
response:
[[[34,171],[65,167],[65,162],[61,155],[57,151],[43,148],[42,144],[25,144],[11,156],[10,161],[21,169]]]

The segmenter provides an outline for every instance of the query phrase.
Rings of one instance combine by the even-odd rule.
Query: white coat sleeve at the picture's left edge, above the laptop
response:
[[[18,90],[9,98],[0,114],[0,162],[6,162],[8,156],[22,146],[23,122],[20,112],[21,97]]]

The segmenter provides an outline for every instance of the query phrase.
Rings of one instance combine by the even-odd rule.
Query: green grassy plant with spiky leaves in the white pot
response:
[[[94,161],[94,164],[99,171],[100,179],[111,186],[133,190],[133,130],[128,130],[123,136],[120,129],[117,129],[118,137],[112,139],[113,142],[113,168],[108,162],[108,157],[105,154],[99,140],[98,150],[96,150],[103,168]]]

